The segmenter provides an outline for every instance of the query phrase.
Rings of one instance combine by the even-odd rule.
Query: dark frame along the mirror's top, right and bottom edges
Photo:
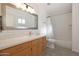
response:
[[[12,5],[12,4],[6,4],[6,3],[4,3],[4,7],[6,8],[6,6],[9,6],[9,7],[12,7],[12,8],[15,8],[15,9],[18,9],[18,8],[16,8],[14,5]],[[4,8],[4,9],[5,9]],[[21,10],[21,9],[18,9],[18,10]],[[25,11],[24,11],[25,12]],[[27,12],[27,13],[29,13],[29,12]],[[31,13],[29,13],[29,14],[31,14]],[[13,27],[7,27],[6,25],[3,27],[4,28],[4,30],[36,30],[36,29],[38,29],[38,15],[37,14],[31,14],[31,15],[34,15],[34,16],[36,16],[36,19],[35,19],[35,24],[36,24],[36,27],[29,27],[29,28],[13,28]]]

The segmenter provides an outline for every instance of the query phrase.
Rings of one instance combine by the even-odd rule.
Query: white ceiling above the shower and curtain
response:
[[[72,11],[71,3],[30,3],[35,10],[43,10],[49,16],[64,14]]]

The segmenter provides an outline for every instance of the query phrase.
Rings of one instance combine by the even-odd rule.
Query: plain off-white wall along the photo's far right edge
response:
[[[79,3],[72,7],[72,50],[79,52]]]

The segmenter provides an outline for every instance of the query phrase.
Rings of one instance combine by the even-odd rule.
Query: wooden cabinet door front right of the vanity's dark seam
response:
[[[40,39],[32,41],[32,55],[42,55],[43,53],[43,47]]]

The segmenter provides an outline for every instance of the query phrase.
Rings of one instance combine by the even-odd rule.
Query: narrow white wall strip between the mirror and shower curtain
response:
[[[38,30],[40,34],[46,35],[46,11],[42,8],[41,4],[39,5],[38,9]]]

